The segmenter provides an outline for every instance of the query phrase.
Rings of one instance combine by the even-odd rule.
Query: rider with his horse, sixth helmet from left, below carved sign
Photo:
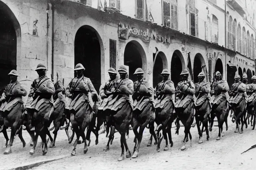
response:
[[[153,88],[149,86],[147,81],[143,79],[144,71],[137,68],[134,72],[137,81],[134,82],[134,93],[132,95],[134,101],[133,109],[133,132],[135,134],[134,150],[132,158],[139,156],[139,148],[142,140],[143,131],[149,124],[150,133],[154,133],[155,108],[152,101]],[[139,132],[137,129],[139,129]],[[138,141],[138,143],[137,143]]]

